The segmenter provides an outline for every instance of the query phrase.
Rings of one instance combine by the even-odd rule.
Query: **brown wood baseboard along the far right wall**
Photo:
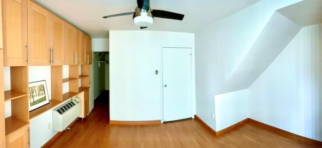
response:
[[[256,121],[256,120],[251,119],[251,118],[248,118],[248,123],[253,124],[253,125],[255,125],[257,127],[260,127],[260,128],[267,129],[268,131],[271,131],[273,133],[279,134],[279,135],[287,137],[287,138],[322,145],[322,141],[318,141],[318,140],[310,139],[310,138],[307,138],[307,137],[304,137],[304,136],[300,136],[300,135],[285,131],[283,129],[279,129],[277,127],[262,123],[260,121]]]

